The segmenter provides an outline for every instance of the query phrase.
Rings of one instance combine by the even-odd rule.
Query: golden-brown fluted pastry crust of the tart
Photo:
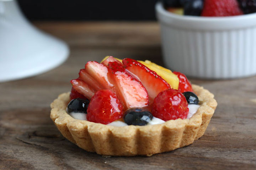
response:
[[[62,135],[88,152],[115,156],[151,156],[190,145],[201,137],[217,107],[214,95],[203,87],[192,85],[200,107],[190,119],[169,120],[146,126],[109,126],[78,120],[66,113],[69,92],[51,103],[50,118]]]

